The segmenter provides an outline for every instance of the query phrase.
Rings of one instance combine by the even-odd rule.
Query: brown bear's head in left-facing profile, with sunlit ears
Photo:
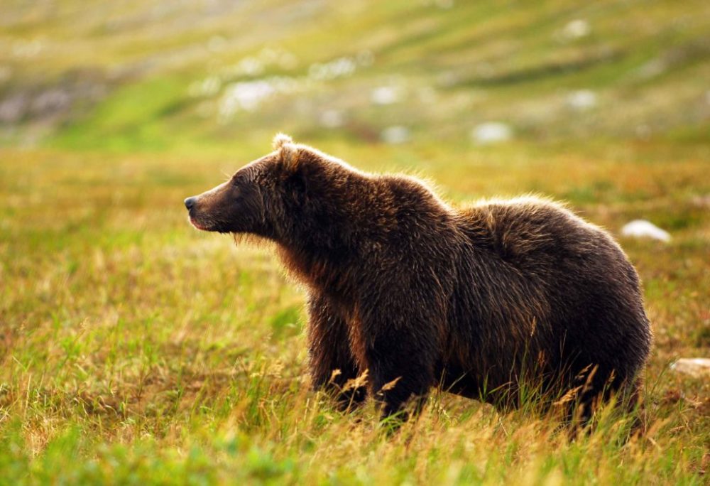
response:
[[[328,200],[329,195],[316,188],[331,192],[332,185],[322,184],[324,178],[347,170],[346,164],[278,134],[273,152],[216,188],[185,199],[185,207],[197,229],[282,239],[316,200]],[[314,198],[315,193],[322,197]]]

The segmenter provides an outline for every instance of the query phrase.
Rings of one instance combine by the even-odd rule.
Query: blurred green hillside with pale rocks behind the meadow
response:
[[[4,0],[0,144],[710,140],[710,3]]]

